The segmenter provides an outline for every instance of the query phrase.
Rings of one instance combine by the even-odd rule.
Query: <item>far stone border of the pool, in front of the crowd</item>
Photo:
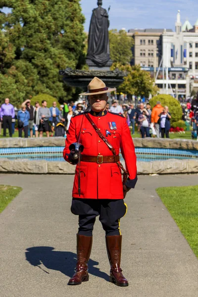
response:
[[[198,150],[198,141],[188,139],[133,138],[137,148],[176,148]],[[64,147],[64,137],[1,138],[0,148]]]

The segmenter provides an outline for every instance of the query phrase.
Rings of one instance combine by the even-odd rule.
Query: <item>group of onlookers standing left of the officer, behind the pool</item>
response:
[[[9,137],[18,130],[18,136],[22,137],[43,137],[44,132],[46,136],[66,136],[69,129],[71,117],[84,111],[85,101],[74,104],[64,102],[64,104],[57,107],[56,101],[52,106],[48,107],[46,100],[40,103],[37,101],[35,105],[31,105],[31,100],[27,99],[21,104],[21,108],[17,110],[6,98],[4,103],[0,106],[0,134],[1,125],[3,129],[3,136],[6,136],[6,129],[9,131]],[[16,126],[17,120],[17,126]],[[16,126],[16,127],[15,127]]]

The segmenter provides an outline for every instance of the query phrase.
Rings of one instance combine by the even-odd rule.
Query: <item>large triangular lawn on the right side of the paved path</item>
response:
[[[198,186],[158,188],[156,192],[198,257]]]

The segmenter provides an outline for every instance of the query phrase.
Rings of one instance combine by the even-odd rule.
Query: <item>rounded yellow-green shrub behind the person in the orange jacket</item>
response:
[[[162,106],[167,105],[171,114],[171,125],[174,122],[177,122],[179,120],[181,120],[182,118],[182,107],[180,105],[180,102],[173,98],[170,95],[163,95],[163,94],[159,94],[157,96],[154,96],[152,99],[150,99],[149,103],[151,105],[151,108],[153,108],[157,101],[161,102]]]

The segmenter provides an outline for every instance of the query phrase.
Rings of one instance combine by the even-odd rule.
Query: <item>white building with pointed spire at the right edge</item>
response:
[[[169,80],[162,93],[172,93],[167,87],[169,84],[177,97],[188,97],[193,89],[198,91],[198,21],[194,26],[189,21],[182,26],[178,10],[175,32],[164,30],[162,34],[162,56],[163,65],[172,70],[168,72]],[[156,84],[159,83],[157,80]]]

